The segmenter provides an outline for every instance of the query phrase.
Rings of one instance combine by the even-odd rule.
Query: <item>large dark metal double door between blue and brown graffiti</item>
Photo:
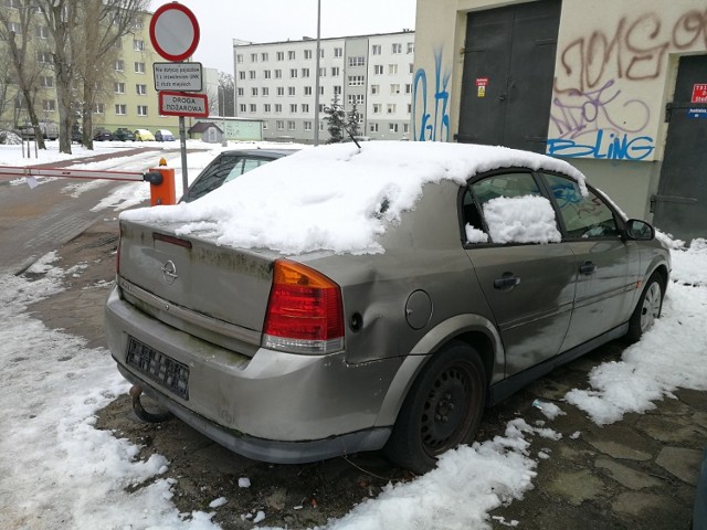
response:
[[[467,15],[457,140],[545,152],[560,0]]]

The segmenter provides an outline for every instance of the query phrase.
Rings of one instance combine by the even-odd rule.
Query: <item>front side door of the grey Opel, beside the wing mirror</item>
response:
[[[562,350],[598,337],[629,319],[640,261],[624,241],[623,223],[608,201],[591,188],[544,173],[563,227],[563,240],[577,257],[574,308]]]

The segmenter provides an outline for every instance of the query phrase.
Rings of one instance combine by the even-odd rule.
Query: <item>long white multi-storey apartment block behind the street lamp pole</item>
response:
[[[414,32],[320,40],[319,140],[329,135],[325,108],[338,99],[359,115],[361,136],[408,139],[412,110]],[[263,120],[272,140],[315,137],[317,41],[233,40],[236,116]]]

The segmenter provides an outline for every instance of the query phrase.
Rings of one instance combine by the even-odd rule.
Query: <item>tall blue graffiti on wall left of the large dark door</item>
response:
[[[442,51],[434,53],[433,107],[428,107],[428,73],[415,72],[412,83],[412,137],[418,141],[450,140],[450,83],[451,72],[442,72]]]

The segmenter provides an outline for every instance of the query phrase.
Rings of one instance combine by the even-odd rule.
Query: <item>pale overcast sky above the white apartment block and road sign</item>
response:
[[[414,30],[416,0],[320,0],[321,38]],[[150,10],[170,3],[152,0]],[[181,0],[199,22],[194,61],[233,73],[233,39],[274,42],[317,36],[317,0]]]

